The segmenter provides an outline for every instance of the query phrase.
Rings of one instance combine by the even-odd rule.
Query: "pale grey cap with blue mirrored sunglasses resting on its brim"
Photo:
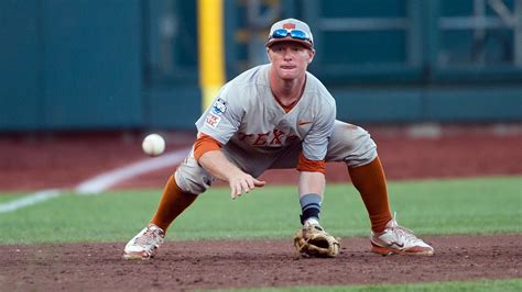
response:
[[[296,19],[285,19],[274,23],[264,45],[270,47],[275,43],[289,41],[303,44],[309,49],[314,48],[314,36],[308,24]]]

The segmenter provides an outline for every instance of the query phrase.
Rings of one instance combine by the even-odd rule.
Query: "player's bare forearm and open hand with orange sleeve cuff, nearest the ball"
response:
[[[230,162],[221,153],[219,142],[208,135],[198,134],[194,145],[194,157],[213,177],[229,182],[232,199],[265,184],[264,181],[253,178]]]

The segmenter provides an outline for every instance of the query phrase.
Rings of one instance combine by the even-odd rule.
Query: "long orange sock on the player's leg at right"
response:
[[[392,216],[381,160],[377,157],[366,166],[348,168],[348,172],[370,215],[371,229],[376,233],[384,231]]]

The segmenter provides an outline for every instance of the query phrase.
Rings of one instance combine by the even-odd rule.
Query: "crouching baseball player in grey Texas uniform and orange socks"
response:
[[[433,255],[433,247],[392,217],[385,177],[368,132],[335,120],[334,98],[306,71],[315,55],[308,25],[295,19],[279,21],[265,46],[270,64],[226,83],[196,122],[198,134],[192,151],[166,182],[149,225],[124,247],[123,258],[152,258],[171,223],[213,180],[227,181],[230,196],[237,199],[262,188],[265,181],[257,178],[278,168],[300,171],[303,228],[295,239],[297,251],[317,255],[300,242],[312,243],[311,237],[301,240],[306,236],[320,237],[326,238],[322,255],[334,257],[339,244],[319,223],[326,161],[347,165],[371,222],[371,251]]]

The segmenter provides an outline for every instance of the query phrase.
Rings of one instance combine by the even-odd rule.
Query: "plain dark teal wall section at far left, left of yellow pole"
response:
[[[0,128],[142,124],[140,1],[2,1]]]

